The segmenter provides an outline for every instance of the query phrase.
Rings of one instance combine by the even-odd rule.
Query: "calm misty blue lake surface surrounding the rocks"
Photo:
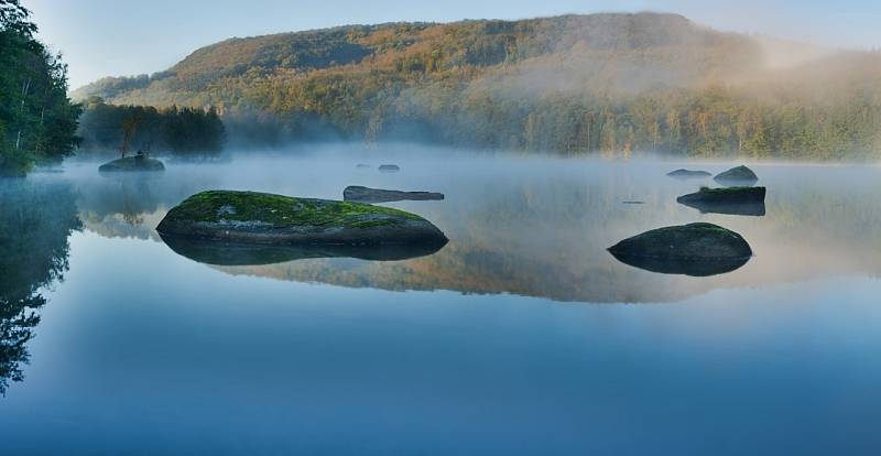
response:
[[[881,169],[758,164],[764,216],[676,197],[732,163],[335,148],[0,182],[3,454],[869,455],[881,450]],[[368,163],[372,167],[356,167]],[[398,173],[377,166],[395,163]],[[61,172],[57,172],[61,171]],[[208,264],[155,226],[208,188],[388,204],[400,261]],[[718,275],[606,249],[709,221]]]

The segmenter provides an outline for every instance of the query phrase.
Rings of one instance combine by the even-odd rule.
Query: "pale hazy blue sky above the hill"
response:
[[[22,0],[62,51],[76,88],[165,69],[197,47],[330,25],[523,19],[602,11],[677,12],[719,30],[845,47],[881,47],[880,0]]]

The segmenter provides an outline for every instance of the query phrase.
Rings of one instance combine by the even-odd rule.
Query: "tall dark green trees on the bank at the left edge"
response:
[[[0,174],[20,175],[76,148],[80,109],[67,98],[67,67],[35,33],[19,0],[0,0]]]

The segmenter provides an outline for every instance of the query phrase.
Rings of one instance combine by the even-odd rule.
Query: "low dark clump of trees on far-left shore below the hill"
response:
[[[143,150],[204,156],[222,150],[225,134],[224,122],[213,108],[115,106],[93,97],[85,102],[79,120],[85,151]]]

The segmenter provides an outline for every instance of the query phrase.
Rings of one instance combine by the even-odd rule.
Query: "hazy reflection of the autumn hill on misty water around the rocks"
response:
[[[770,188],[765,217],[698,213],[676,203],[699,182],[666,176],[670,164],[469,159],[405,161],[396,174],[363,173],[356,161],[237,159],[170,166],[162,177],[97,178],[68,172],[86,229],[162,242],[154,227],[187,196],[208,188],[338,199],[342,188],[431,187],[443,203],[390,204],[440,228],[449,243],[429,256],[383,259],[352,252],[210,251],[171,246],[229,274],[382,290],[512,293],[577,302],[668,302],[711,290],[881,273],[881,180],[875,167],[755,166]],[[709,167],[724,171],[726,166]],[[85,167],[84,167],[85,170]],[[628,205],[622,200],[643,204]],[[716,222],[741,234],[755,257],[686,275],[617,261],[608,246],[659,226]],[[396,254],[396,253],[395,253]],[[340,258],[347,257],[347,258]]]

